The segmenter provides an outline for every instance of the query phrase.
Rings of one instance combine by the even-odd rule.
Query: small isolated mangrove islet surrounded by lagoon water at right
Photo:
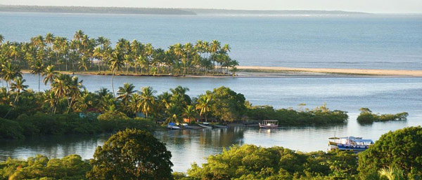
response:
[[[379,114],[379,113],[372,113],[371,110],[368,108],[361,108],[359,109],[361,113],[357,116],[357,122],[359,123],[373,123],[373,122],[380,122],[380,121],[390,121],[390,120],[407,120],[407,116],[409,113],[402,112],[396,114]]]

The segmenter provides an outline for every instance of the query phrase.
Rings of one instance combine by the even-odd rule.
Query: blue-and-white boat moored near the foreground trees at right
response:
[[[338,149],[340,151],[365,151],[373,144],[371,139],[362,139],[362,137],[330,137],[328,146],[330,150]]]

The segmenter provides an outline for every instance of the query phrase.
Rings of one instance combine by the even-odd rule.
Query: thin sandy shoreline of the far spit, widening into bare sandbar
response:
[[[115,76],[142,76],[142,77],[179,77],[179,78],[250,78],[250,77],[422,77],[422,70],[402,70],[402,69],[341,69],[341,68],[302,68],[302,67],[260,67],[260,66],[238,66],[236,76],[231,74],[135,74],[130,72],[116,73]],[[25,74],[30,74],[30,70],[22,70]],[[81,74],[112,76],[110,71],[58,71],[62,74]]]

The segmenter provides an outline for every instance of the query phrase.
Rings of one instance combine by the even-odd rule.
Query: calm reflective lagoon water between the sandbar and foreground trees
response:
[[[25,74],[30,88],[37,89],[37,76]],[[111,76],[79,76],[87,90],[111,88]],[[245,95],[252,104],[269,104],[276,108],[297,109],[306,103],[309,109],[326,102],[331,109],[348,111],[346,125],[323,127],[283,127],[260,130],[256,127],[231,127],[228,130],[173,130],[156,132],[156,137],[172,151],[174,171],[186,171],[191,162],[205,162],[205,157],[233,144],[284,146],[299,151],[325,151],[327,138],[361,136],[376,140],[389,130],[422,125],[422,78],[172,78],[115,77],[115,86],[134,83],[136,88],[150,85],[158,93],[182,85],[190,88],[188,95],[197,96],[225,85]],[[42,89],[46,88],[44,86]],[[407,121],[359,125],[356,121],[361,107],[374,112],[409,112]],[[298,138],[300,137],[300,138]],[[102,145],[107,134],[82,137],[43,137],[25,141],[0,141],[0,160],[6,157],[26,158],[39,153],[63,157],[77,153],[92,158],[96,146]]]

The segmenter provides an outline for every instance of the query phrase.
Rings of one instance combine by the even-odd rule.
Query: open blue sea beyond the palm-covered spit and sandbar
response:
[[[422,69],[422,15],[212,16],[0,13],[0,34],[29,41],[52,32],[69,39],[82,29],[153,43],[218,39],[241,65]],[[30,27],[30,28],[28,28]]]

